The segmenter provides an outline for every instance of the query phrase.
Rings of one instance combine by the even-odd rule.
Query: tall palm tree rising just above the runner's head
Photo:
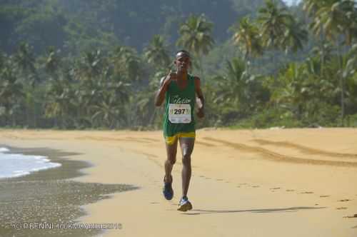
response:
[[[202,55],[208,54],[213,47],[214,41],[211,37],[213,24],[209,22],[204,15],[191,15],[181,24],[178,33],[180,37],[176,42],[177,46],[183,47],[188,51],[193,52],[199,59],[201,76],[203,77]]]

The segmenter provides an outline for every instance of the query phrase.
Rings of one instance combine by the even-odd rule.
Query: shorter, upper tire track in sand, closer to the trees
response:
[[[280,146],[286,148],[295,148],[302,153],[306,153],[308,155],[323,155],[323,156],[331,156],[331,157],[338,157],[338,158],[357,158],[357,154],[352,153],[335,153],[331,151],[323,151],[316,148],[311,148],[308,146],[298,145],[296,143],[291,143],[288,141],[268,141],[264,139],[254,139],[256,143],[260,145],[272,145],[272,146]]]

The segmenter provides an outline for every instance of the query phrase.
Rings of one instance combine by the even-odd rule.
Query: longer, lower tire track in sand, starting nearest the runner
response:
[[[288,163],[298,163],[298,164],[310,164],[310,165],[323,165],[323,166],[344,166],[344,167],[357,167],[357,162],[348,162],[348,161],[323,161],[316,160],[311,158],[298,158],[294,156],[286,156],[280,153],[276,153],[273,151],[269,151],[266,148],[261,148],[258,146],[248,146],[243,143],[233,143],[230,141],[224,141],[216,138],[208,138],[205,137],[208,141],[214,141],[217,143],[221,143],[225,146],[238,149],[240,151],[245,151],[249,153],[259,153],[261,154],[261,158],[266,159],[268,161],[278,161],[278,162],[288,162]]]

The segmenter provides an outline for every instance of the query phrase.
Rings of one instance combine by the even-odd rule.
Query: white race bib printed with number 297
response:
[[[191,123],[191,106],[189,104],[169,104],[169,121],[171,123]]]

